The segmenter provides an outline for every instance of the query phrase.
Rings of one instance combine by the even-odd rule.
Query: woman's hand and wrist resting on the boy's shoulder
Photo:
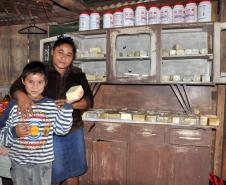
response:
[[[15,92],[18,112],[21,112],[24,116],[28,116],[32,112],[33,101],[22,91]]]

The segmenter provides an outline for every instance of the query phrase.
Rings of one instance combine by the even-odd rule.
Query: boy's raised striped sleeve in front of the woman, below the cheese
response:
[[[70,131],[73,122],[72,112],[73,108],[68,103],[65,103],[60,109],[56,107],[55,122],[53,124],[55,134],[65,135]]]

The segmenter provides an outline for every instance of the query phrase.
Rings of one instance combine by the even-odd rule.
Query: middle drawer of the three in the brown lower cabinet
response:
[[[149,144],[164,144],[165,126],[162,125],[136,125],[131,126],[131,142],[142,142]]]

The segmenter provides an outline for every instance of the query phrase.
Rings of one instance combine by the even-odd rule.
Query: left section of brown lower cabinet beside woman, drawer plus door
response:
[[[80,184],[125,185],[127,130],[123,124],[85,123],[88,172]]]

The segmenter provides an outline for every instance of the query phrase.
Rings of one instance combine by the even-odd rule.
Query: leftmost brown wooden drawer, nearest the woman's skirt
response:
[[[127,138],[127,125],[123,123],[96,123],[96,139],[125,140]]]

